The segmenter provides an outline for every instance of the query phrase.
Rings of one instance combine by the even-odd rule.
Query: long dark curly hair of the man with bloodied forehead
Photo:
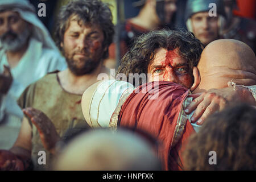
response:
[[[174,50],[178,48],[179,55],[188,61],[189,67],[199,62],[204,45],[195,38],[192,32],[185,30],[158,30],[143,34],[135,40],[133,46],[119,65],[117,74],[125,74],[129,80],[129,73],[147,74],[148,65],[155,57],[158,48]],[[131,84],[134,84],[131,82]],[[140,81],[140,85],[142,82]]]

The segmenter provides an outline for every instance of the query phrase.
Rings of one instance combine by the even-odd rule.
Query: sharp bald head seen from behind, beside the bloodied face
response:
[[[228,81],[237,85],[256,85],[256,58],[245,43],[233,39],[215,40],[205,47],[197,65],[201,82],[196,92],[220,89]]]

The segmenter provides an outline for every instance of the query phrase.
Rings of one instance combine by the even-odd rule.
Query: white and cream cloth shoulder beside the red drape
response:
[[[82,113],[91,127],[109,127],[110,118],[123,94],[131,93],[134,86],[126,81],[96,82],[82,96]]]

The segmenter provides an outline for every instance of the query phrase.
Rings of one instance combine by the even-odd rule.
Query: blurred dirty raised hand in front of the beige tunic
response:
[[[23,113],[30,118],[31,122],[38,129],[44,148],[54,154],[55,145],[60,140],[60,137],[51,120],[42,111],[32,107],[23,109]]]

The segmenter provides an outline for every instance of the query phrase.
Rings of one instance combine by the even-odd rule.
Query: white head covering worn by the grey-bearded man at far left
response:
[[[27,0],[1,0],[0,11],[6,9],[11,9],[12,11],[18,12],[22,19],[33,25],[32,38],[42,42],[43,47],[58,50],[51,38],[51,35],[49,35],[47,28],[38,19],[35,7],[31,5],[30,2]],[[2,47],[1,43],[0,47]]]

